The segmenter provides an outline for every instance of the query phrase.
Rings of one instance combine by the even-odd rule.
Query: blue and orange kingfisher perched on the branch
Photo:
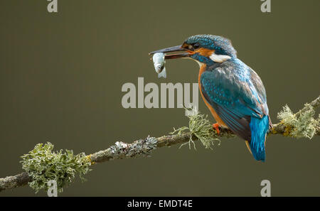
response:
[[[230,129],[245,140],[255,160],[265,161],[265,140],[272,128],[265,87],[259,75],[238,59],[228,38],[191,36],[182,45],[149,55],[154,53],[165,53],[165,60],[195,60],[201,97],[217,122],[213,128],[218,134],[222,128]]]

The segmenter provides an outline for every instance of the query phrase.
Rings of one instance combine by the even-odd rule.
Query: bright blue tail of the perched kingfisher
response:
[[[252,155],[257,161],[265,161],[265,137],[269,130],[269,117],[265,116],[262,119],[251,117],[250,129]]]

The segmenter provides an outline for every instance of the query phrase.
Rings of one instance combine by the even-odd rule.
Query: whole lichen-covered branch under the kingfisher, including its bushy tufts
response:
[[[280,134],[282,136],[292,136],[296,138],[320,136],[320,118],[314,119],[314,109],[320,106],[320,96],[309,104],[305,104],[296,114],[293,114],[288,106],[279,112],[278,124],[273,124],[269,134]],[[53,152],[53,145],[47,143],[37,144],[33,151],[22,156],[23,169],[25,172],[18,175],[0,178],[0,191],[17,188],[29,184],[36,190],[47,189],[48,180],[56,180],[58,190],[61,192],[65,185],[68,185],[79,174],[83,180],[83,175],[90,171],[90,165],[122,158],[137,158],[149,156],[156,148],[173,146],[176,144],[194,144],[200,140],[206,148],[212,148],[218,138],[235,137],[230,129],[220,129],[217,134],[212,128],[207,116],[198,112],[189,111],[188,126],[175,129],[171,135],[146,137],[131,144],[117,141],[116,144],[102,151],[85,156],[85,153],[73,155],[73,151],[66,150]],[[220,144],[220,141],[218,141]],[[193,145],[194,146],[194,145]]]

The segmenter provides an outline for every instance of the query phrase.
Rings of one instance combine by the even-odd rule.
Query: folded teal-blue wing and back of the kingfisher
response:
[[[240,60],[228,61],[201,75],[201,91],[207,102],[233,133],[251,140],[251,118],[268,115],[265,87],[260,77]]]

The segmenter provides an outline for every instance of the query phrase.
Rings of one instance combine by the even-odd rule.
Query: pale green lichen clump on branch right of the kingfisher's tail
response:
[[[314,119],[314,115],[314,108],[310,104],[305,104],[304,109],[297,114],[293,114],[288,105],[286,105],[278,113],[277,117],[284,124],[287,136],[312,139],[316,134],[317,127],[320,126],[320,115],[318,119]]]

